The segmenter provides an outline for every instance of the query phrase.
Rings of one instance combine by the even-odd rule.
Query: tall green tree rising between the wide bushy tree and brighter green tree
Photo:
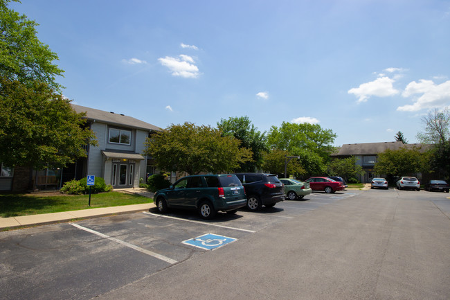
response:
[[[248,116],[222,118],[217,128],[222,130],[224,136],[234,136],[240,140],[240,147],[253,153],[252,159],[237,168],[237,172],[255,172],[261,167],[262,157],[268,151],[265,132],[258,131]]]

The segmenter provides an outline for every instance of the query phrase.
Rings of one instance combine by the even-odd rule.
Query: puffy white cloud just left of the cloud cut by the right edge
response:
[[[358,97],[358,103],[366,102],[370,96],[387,97],[398,94],[399,91],[394,89],[393,82],[395,80],[388,77],[380,77],[374,81],[366,82],[359,87],[348,90],[348,94],[354,94]]]

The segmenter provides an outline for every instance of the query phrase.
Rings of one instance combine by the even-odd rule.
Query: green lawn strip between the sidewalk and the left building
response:
[[[38,215],[40,213],[59,213],[79,209],[95,209],[99,207],[122,206],[153,202],[152,198],[119,192],[91,195],[39,196],[24,194],[0,195],[0,217],[17,217],[19,215]]]

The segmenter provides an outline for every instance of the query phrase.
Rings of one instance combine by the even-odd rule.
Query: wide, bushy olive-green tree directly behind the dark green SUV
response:
[[[240,148],[240,140],[235,137],[188,122],[153,134],[145,145],[145,154],[154,157],[159,169],[191,175],[232,172],[251,159],[251,151]]]

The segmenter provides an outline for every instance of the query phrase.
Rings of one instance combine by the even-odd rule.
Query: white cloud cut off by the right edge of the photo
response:
[[[419,82],[410,82],[403,91],[402,96],[410,97],[422,94],[414,99],[412,105],[397,107],[397,110],[404,112],[417,112],[421,109],[433,109],[444,107],[450,104],[450,80],[436,85],[432,80],[421,79]]]

